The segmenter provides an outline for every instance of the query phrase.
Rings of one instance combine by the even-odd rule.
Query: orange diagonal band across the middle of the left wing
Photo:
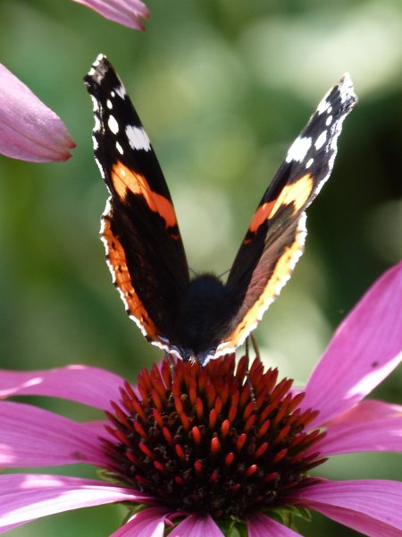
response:
[[[122,202],[124,202],[128,191],[143,196],[149,209],[163,217],[166,227],[177,226],[172,201],[154,192],[144,175],[136,174],[121,162],[117,162],[112,168],[112,182],[114,190]]]

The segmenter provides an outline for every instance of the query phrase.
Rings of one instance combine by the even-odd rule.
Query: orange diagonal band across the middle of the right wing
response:
[[[264,224],[265,220],[272,218],[283,205],[293,203],[293,214],[297,214],[308,200],[313,187],[313,177],[310,174],[303,175],[296,183],[287,184],[276,200],[267,201],[256,209],[249,231],[255,233],[258,227]]]

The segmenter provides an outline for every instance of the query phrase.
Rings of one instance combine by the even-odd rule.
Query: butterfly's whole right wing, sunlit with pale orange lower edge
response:
[[[233,351],[281,292],[306,238],[306,208],[331,175],[342,123],[356,104],[348,74],[322,98],[264,193],[226,283],[232,317],[215,355]]]

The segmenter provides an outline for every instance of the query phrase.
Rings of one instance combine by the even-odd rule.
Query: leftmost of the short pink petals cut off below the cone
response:
[[[166,507],[148,507],[130,518],[111,537],[163,537]]]

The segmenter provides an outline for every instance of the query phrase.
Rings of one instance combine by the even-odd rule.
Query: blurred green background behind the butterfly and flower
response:
[[[400,0],[152,0],[147,31],[68,0],[2,0],[1,61],[63,118],[67,163],[0,157],[0,365],[98,365],[135,380],[161,357],[124,313],[98,238],[106,191],[92,158],[82,76],[99,52],[120,73],[169,183],[190,266],[230,267],[249,219],[323,94],[350,72],[360,102],[331,180],[308,211],[306,253],[255,336],[264,361],[306,381],[331,333],[400,258]],[[401,371],[375,396],[401,403]],[[86,420],[78,405],[40,401]],[[21,424],[18,424],[21,426]],[[331,479],[402,478],[394,454],[334,457]],[[57,472],[93,475],[82,467]],[[14,530],[102,536],[120,507],[83,509]],[[306,535],[355,535],[314,515]]]

